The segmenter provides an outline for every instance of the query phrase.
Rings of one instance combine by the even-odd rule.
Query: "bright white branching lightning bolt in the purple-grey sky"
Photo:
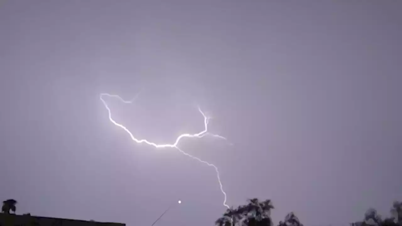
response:
[[[193,158],[193,159],[195,159],[195,160],[198,160],[199,162],[205,163],[205,164],[207,164],[208,166],[212,166],[213,168],[215,168],[216,176],[217,176],[217,179],[218,179],[218,182],[219,182],[219,188],[221,189],[221,192],[222,192],[222,194],[224,194],[224,197],[225,197],[223,204],[224,204],[224,206],[225,206],[226,208],[229,208],[229,205],[226,204],[226,192],[224,191],[224,189],[223,189],[223,187],[222,187],[222,182],[221,182],[221,179],[220,179],[220,177],[219,177],[218,168],[217,168],[214,164],[211,164],[211,163],[209,163],[209,162],[207,162],[207,161],[201,160],[200,158],[197,158],[197,157],[195,157],[195,156],[192,156],[191,154],[188,154],[188,153],[184,152],[183,150],[181,150],[181,149],[178,148],[178,146],[177,146],[178,142],[180,142],[180,140],[181,140],[182,138],[202,138],[202,137],[204,137],[204,136],[206,136],[206,135],[210,135],[210,136],[213,136],[213,137],[216,137],[216,138],[221,138],[221,139],[226,140],[226,138],[224,138],[223,136],[219,136],[219,135],[217,135],[217,134],[211,134],[211,133],[208,132],[208,122],[209,122],[209,118],[208,118],[207,116],[205,116],[205,114],[203,113],[203,111],[201,111],[201,109],[200,109],[199,107],[198,107],[198,111],[199,111],[199,112],[203,115],[203,117],[204,117],[204,126],[205,126],[205,129],[204,129],[203,131],[199,132],[198,134],[181,134],[180,136],[178,136],[178,137],[176,138],[176,141],[175,141],[173,144],[155,144],[155,143],[149,142],[148,140],[145,140],[145,139],[139,140],[139,139],[135,138],[135,137],[133,136],[133,134],[131,134],[131,132],[130,132],[124,125],[121,125],[121,124],[117,123],[117,122],[112,118],[111,110],[110,110],[109,106],[107,105],[106,101],[103,99],[103,96],[117,98],[117,99],[119,99],[119,100],[120,100],[121,102],[123,102],[123,103],[133,103],[133,101],[138,97],[138,95],[136,95],[136,96],[135,96],[133,99],[131,99],[130,101],[125,101],[125,100],[124,100],[123,98],[121,98],[119,95],[109,94],[109,93],[101,93],[100,96],[99,96],[99,98],[100,98],[100,100],[102,101],[103,105],[105,105],[105,108],[107,109],[107,111],[108,111],[108,113],[109,113],[109,120],[110,120],[113,124],[117,125],[117,126],[120,127],[121,129],[123,129],[124,131],[126,131],[127,134],[130,135],[131,140],[133,140],[134,142],[136,142],[136,143],[138,143],[138,144],[140,144],[140,143],[146,143],[146,144],[148,144],[148,145],[154,146],[155,148],[176,148],[176,149],[177,149],[179,152],[181,152],[182,154],[184,154],[184,155],[186,155],[186,156],[189,156],[190,158]]]

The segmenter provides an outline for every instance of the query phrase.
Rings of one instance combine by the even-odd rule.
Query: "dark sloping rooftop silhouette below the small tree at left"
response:
[[[47,218],[30,214],[15,215],[0,213],[0,226],[125,226],[121,223]]]

